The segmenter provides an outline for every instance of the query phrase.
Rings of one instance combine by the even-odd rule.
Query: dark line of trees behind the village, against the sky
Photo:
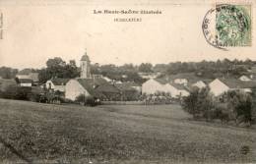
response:
[[[92,74],[100,74],[109,79],[116,81],[145,82],[138,73],[161,73],[161,75],[175,75],[179,73],[193,73],[202,78],[214,79],[217,77],[239,77],[248,74],[248,69],[256,65],[256,61],[247,60],[218,60],[218,61],[201,61],[201,62],[172,62],[168,64],[142,63],[140,65],[124,64],[116,66],[114,64],[91,65]],[[60,57],[48,59],[46,67],[42,69],[32,69],[33,72],[39,73],[39,82],[43,83],[51,78],[72,79],[79,77],[80,68],[75,60],[65,62]],[[9,67],[0,68],[0,77],[4,79],[14,79],[18,69]]]

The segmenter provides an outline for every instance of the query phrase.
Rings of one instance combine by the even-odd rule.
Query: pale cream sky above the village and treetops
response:
[[[202,31],[203,19],[216,2],[0,0],[3,14],[0,67],[41,68],[45,67],[47,59],[53,57],[65,61],[74,59],[79,64],[86,51],[92,63],[101,65],[224,58],[256,60],[254,38],[249,47],[232,47],[227,51],[206,41]],[[255,2],[250,3],[251,11],[255,11]],[[94,10],[129,9],[159,10],[161,14],[94,14]],[[252,12],[253,23],[255,15]],[[114,22],[114,18],[141,18],[142,22],[121,23]],[[252,27],[252,36],[255,34],[255,27]]]

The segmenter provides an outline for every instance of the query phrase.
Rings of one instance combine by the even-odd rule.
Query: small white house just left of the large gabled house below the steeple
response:
[[[53,91],[61,91],[65,92],[65,85],[67,82],[69,82],[70,79],[61,79],[61,78],[55,78],[47,81],[45,83],[45,87],[49,90]]]

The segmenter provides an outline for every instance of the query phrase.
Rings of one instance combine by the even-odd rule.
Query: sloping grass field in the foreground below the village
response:
[[[0,135],[0,163],[256,162],[255,130],[191,121],[178,105],[0,99]]]

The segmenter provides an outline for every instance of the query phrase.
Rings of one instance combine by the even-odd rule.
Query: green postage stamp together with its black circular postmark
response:
[[[250,46],[250,6],[217,5],[205,15],[202,29],[207,42],[217,48]]]

